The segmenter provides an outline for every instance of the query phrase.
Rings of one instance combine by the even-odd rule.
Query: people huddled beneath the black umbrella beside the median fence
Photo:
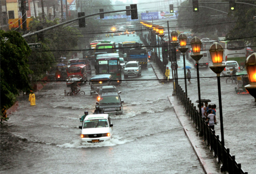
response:
[[[216,104],[214,105],[208,105],[208,102],[205,102],[205,106],[203,103],[201,103],[201,112],[202,117],[206,121],[209,121],[209,127],[214,130],[214,124],[217,124],[216,122]]]

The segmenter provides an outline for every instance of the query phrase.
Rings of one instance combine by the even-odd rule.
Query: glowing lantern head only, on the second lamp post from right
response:
[[[217,64],[222,64],[222,59],[223,59],[223,47],[218,44],[217,42],[215,42],[214,44],[212,44],[210,46],[210,54],[212,57],[212,63],[214,65]]]

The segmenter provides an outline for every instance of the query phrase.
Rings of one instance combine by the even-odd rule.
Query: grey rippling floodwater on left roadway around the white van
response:
[[[132,79],[156,76],[148,65]],[[36,106],[21,94],[1,126],[1,173],[204,173],[168,101],[172,84],[123,81],[117,88],[124,111],[111,116],[113,139],[93,145],[81,143],[78,128],[95,107],[88,84],[85,95],[64,96],[65,82],[48,83],[35,93]]]

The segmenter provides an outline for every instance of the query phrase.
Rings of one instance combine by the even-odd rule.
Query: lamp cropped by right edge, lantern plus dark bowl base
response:
[[[252,53],[247,57],[245,66],[250,81],[250,84],[246,85],[245,89],[254,97],[256,102],[256,53]]]

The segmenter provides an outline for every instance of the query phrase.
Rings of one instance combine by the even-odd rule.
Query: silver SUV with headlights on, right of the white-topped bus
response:
[[[124,78],[128,76],[141,76],[141,65],[138,61],[129,61],[123,70]]]

